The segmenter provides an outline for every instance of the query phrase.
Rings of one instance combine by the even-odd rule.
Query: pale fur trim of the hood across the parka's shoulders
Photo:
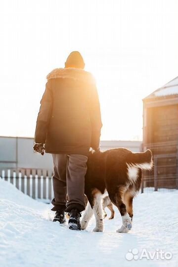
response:
[[[95,84],[95,79],[90,72],[77,68],[58,68],[52,70],[46,79],[68,78]]]

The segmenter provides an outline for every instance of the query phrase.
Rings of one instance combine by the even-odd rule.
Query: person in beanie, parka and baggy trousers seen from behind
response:
[[[86,206],[89,149],[99,150],[102,128],[95,80],[84,67],[82,55],[73,51],[65,68],[54,69],[47,75],[33,147],[42,155],[52,154],[54,207],[51,210],[56,212],[53,222],[66,223],[67,212],[69,228],[74,230],[81,229],[81,212]]]

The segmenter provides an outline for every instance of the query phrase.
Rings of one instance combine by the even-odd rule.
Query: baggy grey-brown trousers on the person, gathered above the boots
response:
[[[51,210],[85,210],[84,190],[88,157],[79,154],[52,154],[52,159],[54,198],[51,203],[54,207]]]

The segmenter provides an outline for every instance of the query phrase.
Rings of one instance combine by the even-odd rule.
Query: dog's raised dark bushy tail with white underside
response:
[[[145,152],[132,153],[130,164],[142,170],[151,170],[153,167],[151,150]]]

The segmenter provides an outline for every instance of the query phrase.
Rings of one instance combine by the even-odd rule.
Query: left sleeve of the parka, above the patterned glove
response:
[[[52,110],[52,92],[48,86],[48,82],[45,86],[45,92],[40,101],[40,111],[38,113],[37,125],[35,130],[35,142],[45,144],[45,138],[47,133],[47,127]]]

